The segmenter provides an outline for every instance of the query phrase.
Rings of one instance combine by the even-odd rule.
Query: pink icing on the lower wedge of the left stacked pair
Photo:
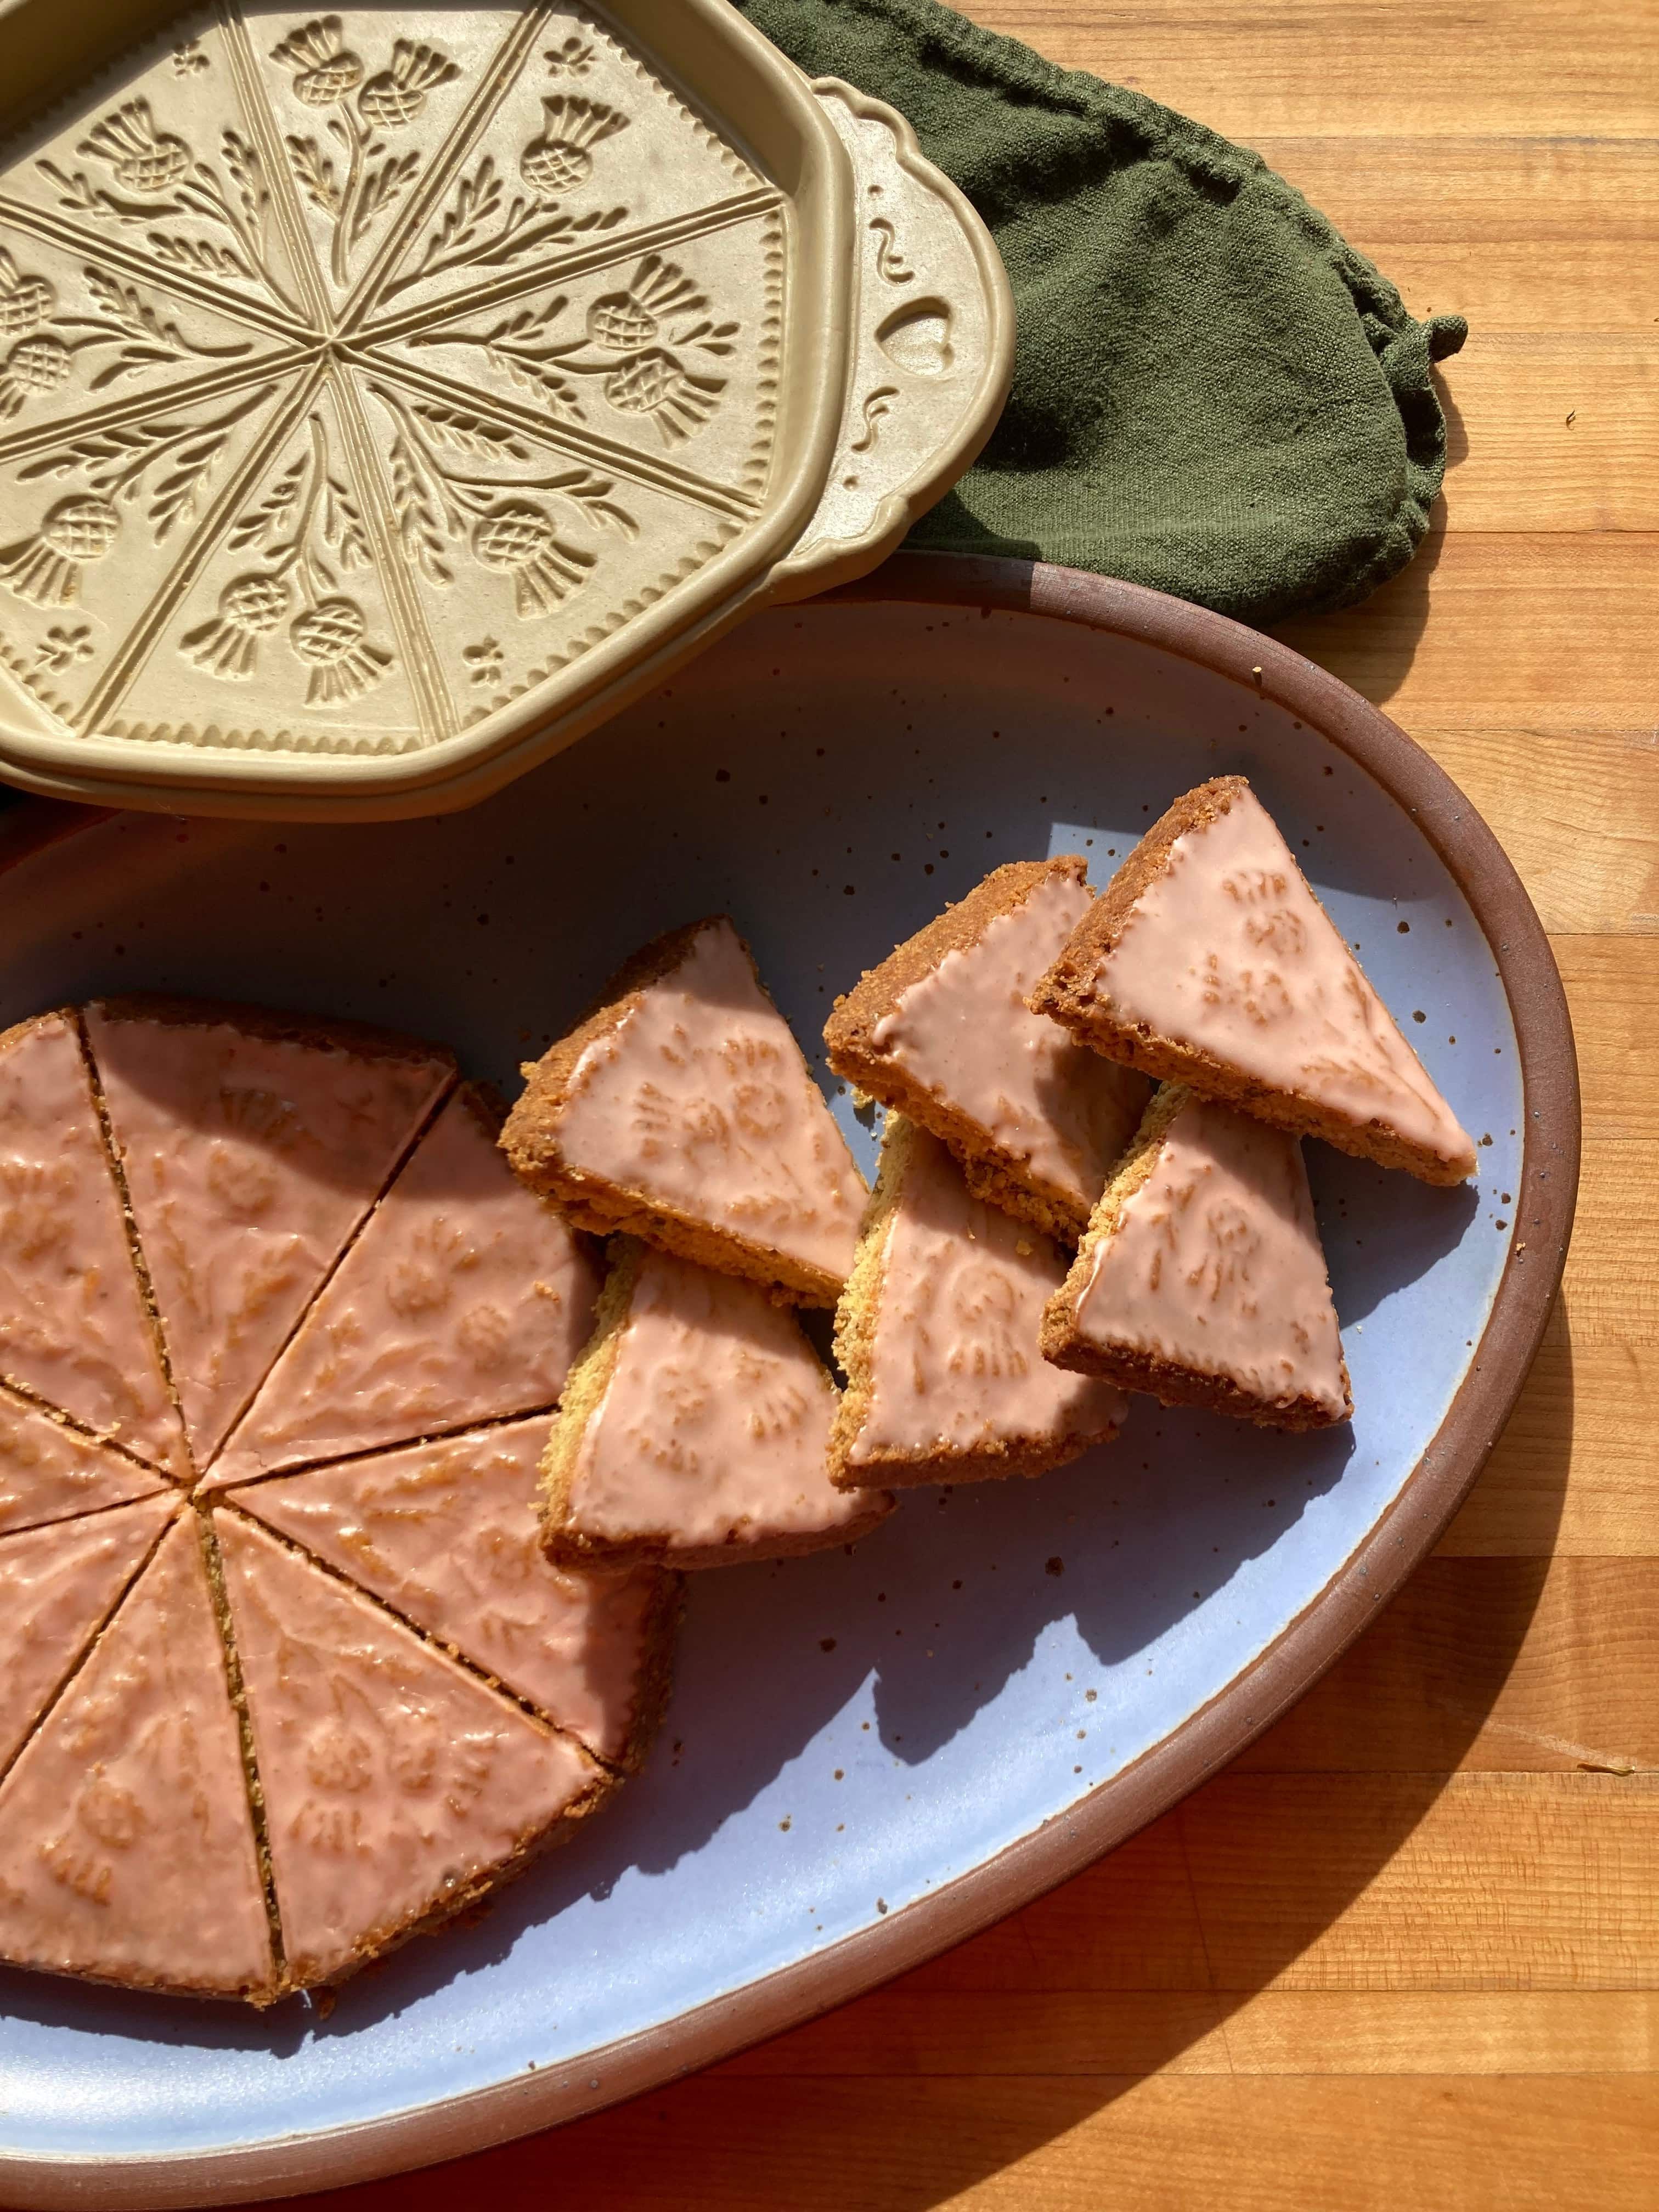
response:
[[[754,1283],[641,1250],[628,1318],[571,1478],[568,1526],[664,1555],[834,1533],[869,1515],[825,1471],[836,1389]]]

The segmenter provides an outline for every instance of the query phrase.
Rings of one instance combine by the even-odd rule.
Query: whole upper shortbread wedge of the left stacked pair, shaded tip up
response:
[[[635,953],[524,1077],[502,1146],[582,1228],[836,1303],[865,1183],[726,916]]]

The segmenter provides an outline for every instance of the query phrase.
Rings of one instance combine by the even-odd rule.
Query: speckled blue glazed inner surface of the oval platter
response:
[[[0,2152],[246,2146],[580,2075],[1075,1803],[1214,1697],[1398,1491],[1498,1287],[1522,1115],[1486,942],[1345,754],[1190,664],[1020,615],[792,608],[473,814],[128,816],[0,880],[7,1020],[113,987],[259,998],[449,1037],[511,1091],[639,940],[730,909],[821,1066],[834,991],[945,898],[1057,852],[1104,883],[1230,770],[1480,1144],[1458,1192],[1307,1148],[1354,1427],[1281,1438],[1137,1398],[1057,1475],[916,1491],[854,1557],[695,1577],[644,1778],[327,2022],[0,1973]],[[869,1164],[874,1126],[827,1086]]]

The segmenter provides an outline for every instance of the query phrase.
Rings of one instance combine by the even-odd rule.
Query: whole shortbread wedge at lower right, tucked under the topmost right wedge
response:
[[[1166,1084],[1048,1303],[1042,1349],[1267,1429],[1347,1420],[1301,1139]]]

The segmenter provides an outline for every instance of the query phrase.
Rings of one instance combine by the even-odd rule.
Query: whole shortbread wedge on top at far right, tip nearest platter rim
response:
[[[1031,1004],[1110,1060],[1462,1183],[1475,1148],[1243,776],[1177,799]]]

